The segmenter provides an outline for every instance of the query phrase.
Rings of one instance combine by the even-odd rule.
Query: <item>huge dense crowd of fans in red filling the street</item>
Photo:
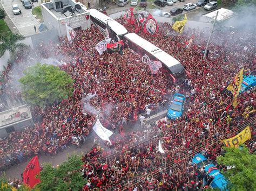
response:
[[[118,21],[133,32],[133,26],[122,19]],[[124,49],[122,54],[104,53],[100,56],[95,46],[104,36],[95,37],[100,32],[93,26],[78,31],[72,44],[61,38],[59,44],[41,44],[33,55],[29,52],[19,54],[16,65],[24,65],[38,57],[62,58],[59,67],[75,80],[75,91],[69,99],[44,109],[32,107],[35,127],[12,132],[0,140],[2,168],[35,154],[57,154],[70,144],[80,146],[86,142],[98,116],[103,126],[116,135],[110,138],[112,145],[95,139],[95,145],[85,154],[82,171],[87,184],[84,190],[133,190],[136,187],[194,190],[203,187],[202,179],[198,178],[203,175],[196,165],[192,165],[192,155],[202,152],[214,161],[221,153],[220,140],[237,134],[240,125],[255,114],[254,89],[240,95],[237,108],[232,108],[232,95],[225,87],[242,67],[245,75],[255,69],[255,47],[251,42],[256,39],[250,32],[234,31],[228,39],[227,32],[220,32],[218,44],[210,45],[210,54],[204,60],[201,53],[205,46],[204,31],[191,29],[177,35],[167,23],[160,24],[159,29],[156,37],[142,31],[139,36],[186,67],[190,74],[180,88],[161,72],[152,76],[150,69],[130,49]],[[186,48],[186,41],[191,36],[194,41],[190,48]],[[15,96],[12,88],[6,88],[12,83],[11,71],[8,66],[3,72],[6,86],[1,94]],[[156,124],[141,123],[137,131],[125,128],[132,127],[140,116],[145,115],[146,109],[153,110],[149,105],[154,105],[154,109],[163,106],[174,91],[187,95],[183,117]],[[226,116],[221,117],[225,110]],[[156,137],[160,132],[161,136]],[[251,152],[255,152],[255,130],[251,128],[251,132],[253,139],[246,144]],[[159,139],[165,154],[158,152]],[[141,142],[145,143],[133,146]],[[128,149],[130,146],[132,148]],[[120,152],[107,157],[117,151]],[[210,181],[211,178],[208,183]]]

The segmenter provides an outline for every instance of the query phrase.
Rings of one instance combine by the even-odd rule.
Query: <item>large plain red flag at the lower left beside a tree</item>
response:
[[[37,183],[40,182],[40,179],[37,179],[36,174],[40,173],[40,165],[38,157],[32,158],[29,161],[29,164],[26,165],[26,168],[23,172],[23,183],[28,185],[30,188],[33,188]]]

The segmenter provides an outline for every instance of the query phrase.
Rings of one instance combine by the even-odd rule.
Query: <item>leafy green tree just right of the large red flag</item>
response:
[[[40,173],[41,183],[36,185],[35,190],[81,190],[86,184],[79,172],[82,165],[81,155],[71,155],[68,161],[56,168],[45,164]]]

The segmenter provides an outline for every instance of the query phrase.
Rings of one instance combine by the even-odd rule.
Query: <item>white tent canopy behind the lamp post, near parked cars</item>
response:
[[[212,11],[212,12],[207,13],[206,15],[204,15],[204,21],[205,22],[211,22],[212,20],[214,20],[215,17],[216,17],[217,11],[219,12],[218,17],[217,17],[218,22],[222,22],[222,21],[224,21],[226,19],[229,19],[229,18],[234,16],[233,11],[231,11],[229,9],[220,8],[218,10]],[[203,21],[203,20],[201,20],[201,21]]]

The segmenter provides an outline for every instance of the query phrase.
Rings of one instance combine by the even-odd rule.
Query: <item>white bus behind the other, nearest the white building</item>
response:
[[[102,12],[97,11],[96,9],[89,9],[87,10],[91,15],[91,21],[97,25],[103,32],[106,29],[107,23],[111,31],[113,32],[116,39],[115,41],[119,41],[123,39],[123,36],[128,33],[123,25],[116,22],[116,20],[106,16]]]

